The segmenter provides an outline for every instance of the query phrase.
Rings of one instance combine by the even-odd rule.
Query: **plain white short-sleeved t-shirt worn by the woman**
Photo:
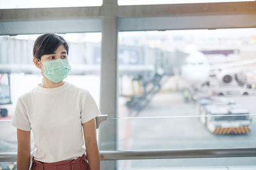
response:
[[[85,153],[83,123],[100,115],[88,90],[65,81],[47,89],[40,84],[19,97],[12,125],[33,132],[32,157],[42,162],[77,159]]]

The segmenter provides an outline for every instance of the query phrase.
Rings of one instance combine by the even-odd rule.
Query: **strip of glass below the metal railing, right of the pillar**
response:
[[[254,170],[256,157],[118,160],[118,170]]]

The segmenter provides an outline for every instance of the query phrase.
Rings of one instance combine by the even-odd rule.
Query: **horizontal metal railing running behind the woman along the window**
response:
[[[100,151],[101,160],[256,157],[256,148]],[[16,152],[0,153],[0,162],[16,162]]]

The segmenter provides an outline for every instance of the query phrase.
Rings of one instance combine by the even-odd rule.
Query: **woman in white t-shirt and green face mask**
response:
[[[12,119],[17,127],[17,170],[29,169],[31,157],[31,170],[99,170],[95,117],[100,111],[87,90],[63,81],[70,72],[67,42],[43,34],[35,41],[33,56],[43,81],[17,101]],[[32,155],[31,130],[36,148]]]

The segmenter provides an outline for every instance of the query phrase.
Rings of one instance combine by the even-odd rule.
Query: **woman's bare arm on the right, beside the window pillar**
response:
[[[83,124],[86,154],[91,170],[100,170],[100,154],[96,137],[95,118]]]

